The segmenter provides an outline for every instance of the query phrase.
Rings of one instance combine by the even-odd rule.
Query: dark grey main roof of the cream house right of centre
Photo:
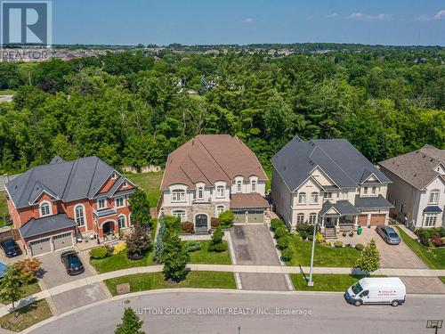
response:
[[[381,183],[391,181],[345,139],[303,142],[295,136],[271,159],[290,191],[320,167],[340,188],[356,188],[370,175]]]

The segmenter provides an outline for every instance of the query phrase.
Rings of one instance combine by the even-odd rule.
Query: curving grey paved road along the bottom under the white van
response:
[[[144,321],[143,329],[150,334],[429,333],[425,322],[444,317],[444,301],[443,297],[408,297],[407,304],[399,307],[354,307],[346,304],[341,294],[168,291],[92,305],[30,333],[112,333],[125,306],[138,308]],[[172,307],[178,315],[171,315]],[[212,308],[220,314],[202,314]],[[276,315],[276,309],[281,313],[295,310],[293,312],[311,314]],[[235,311],[245,314],[235,314]]]

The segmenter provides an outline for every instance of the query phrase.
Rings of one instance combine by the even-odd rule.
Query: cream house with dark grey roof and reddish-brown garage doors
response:
[[[295,136],[272,159],[272,200],[287,225],[319,223],[328,236],[387,224],[390,179],[344,139]]]

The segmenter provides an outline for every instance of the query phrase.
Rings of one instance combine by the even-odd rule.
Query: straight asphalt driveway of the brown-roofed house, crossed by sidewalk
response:
[[[237,265],[281,265],[266,225],[234,225],[231,240]],[[242,289],[288,290],[285,275],[239,273]]]

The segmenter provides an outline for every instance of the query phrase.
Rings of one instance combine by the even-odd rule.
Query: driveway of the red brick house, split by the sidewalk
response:
[[[41,284],[44,288],[53,288],[64,283],[77,281],[95,274],[93,267],[89,264],[87,253],[81,252],[79,253],[79,257],[85,265],[85,273],[69,276],[65,270],[65,266],[61,263],[61,253],[67,250],[70,249],[64,249],[38,257],[42,261],[42,268],[44,270],[44,274],[41,279]],[[107,297],[109,297],[109,292],[103,286],[103,283],[100,283],[90,284],[85,287],[63,292],[49,298],[49,301],[50,305],[52,306],[53,314],[63,314],[77,307],[88,305]]]

